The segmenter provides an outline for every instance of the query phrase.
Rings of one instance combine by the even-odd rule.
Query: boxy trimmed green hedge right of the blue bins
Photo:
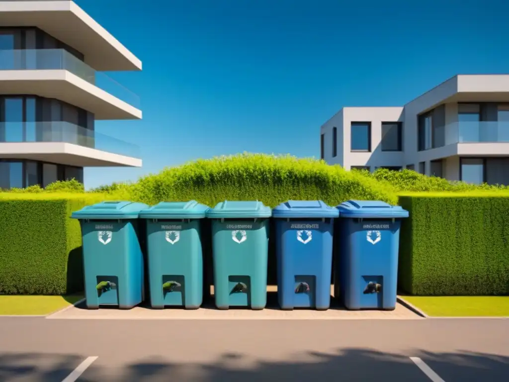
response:
[[[402,196],[399,288],[413,295],[509,294],[506,192]]]

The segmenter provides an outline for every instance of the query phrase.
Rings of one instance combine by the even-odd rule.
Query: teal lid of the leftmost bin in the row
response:
[[[91,206],[84,206],[74,211],[74,219],[136,219],[139,211],[148,208],[144,203],[105,201]]]

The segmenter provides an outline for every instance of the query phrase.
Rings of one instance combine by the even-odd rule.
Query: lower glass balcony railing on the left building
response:
[[[114,154],[140,157],[139,146],[62,121],[0,123],[0,142],[65,142]]]

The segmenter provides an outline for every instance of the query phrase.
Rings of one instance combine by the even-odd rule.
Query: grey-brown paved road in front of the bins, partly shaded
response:
[[[509,380],[509,319],[0,317],[2,382],[62,382],[88,357],[98,358],[77,382],[499,382]]]

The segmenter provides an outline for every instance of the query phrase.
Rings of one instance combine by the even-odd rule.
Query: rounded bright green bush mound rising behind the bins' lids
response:
[[[397,203],[394,190],[375,179],[324,161],[292,156],[240,154],[197,160],[140,179],[131,198],[147,204],[195,199],[209,206],[228,200],[260,200],[274,207],[289,199],[348,199]]]

